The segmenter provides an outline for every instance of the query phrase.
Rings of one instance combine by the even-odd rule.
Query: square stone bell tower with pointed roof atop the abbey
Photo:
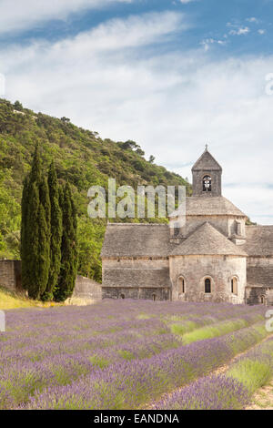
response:
[[[216,197],[222,196],[222,168],[217,160],[207,150],[193,166],[192,196]]]

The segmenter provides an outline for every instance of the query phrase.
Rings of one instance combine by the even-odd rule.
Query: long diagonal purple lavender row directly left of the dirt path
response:
[[[208,374],[239,352],[254,346],[267,332],[255,325],[225,336],[197,341],[149,359],[116,363],[65,386],[36,392],[28,409],[136,409],[148,407],[165,392]]]

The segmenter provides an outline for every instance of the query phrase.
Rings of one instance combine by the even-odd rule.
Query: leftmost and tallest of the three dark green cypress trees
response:
[[[50,199],[38,147],[31,172],[24,182],[21,259],[22,286],[29,297],[40,299],[45,292],[50,266]]]

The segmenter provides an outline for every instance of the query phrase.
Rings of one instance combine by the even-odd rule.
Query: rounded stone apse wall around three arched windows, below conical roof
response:
[[[245,302],[246,257],[176,256],[170,257],[173,301]],[[178,281],[185,280],[185,293],[179,294]],[[238,280],[238,294],[231,293],[231,279]],[[205,293],[205,280],[211,280],[211,293]]]

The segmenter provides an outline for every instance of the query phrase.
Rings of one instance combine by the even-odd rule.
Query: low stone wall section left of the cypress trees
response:
[[[0,260],[0,286],[8,290],[21,290],[21,261]]]

